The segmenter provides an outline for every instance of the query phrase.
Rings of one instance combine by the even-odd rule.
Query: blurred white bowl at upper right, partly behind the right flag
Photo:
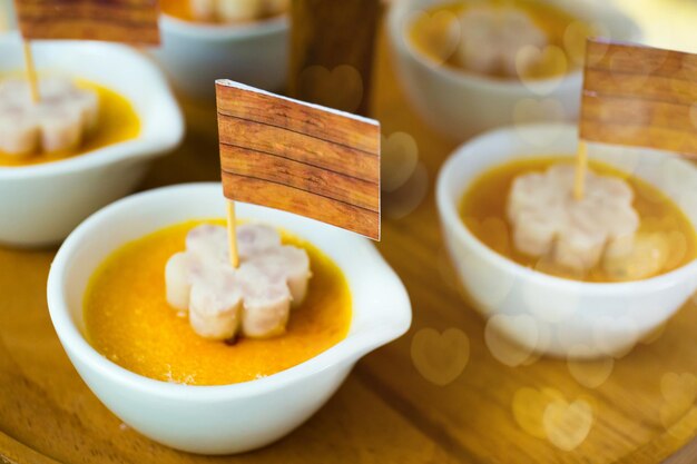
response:
[[[638,26],[607,2],[548,0],[573,17],[602,24],[616,40],[637,41]],[[397,75],[406,96],[433,128],[463,141],[472,135],[513,122],[575,120],[579,111],[582,72],[541,79],[526,86],[519,81],[435,66],[411,45],[406,34],[410,18],[419,11],[451,0],[404,0],[389,14],[389,37]],[[532,99],[532,102],[523,101]],[[553,101],[550,101],[553,100]],[[520,105],[517,109],[517,105]],[[538,108],[536,108],[538,106]],[[516,116],[518,111],[518,116]]]

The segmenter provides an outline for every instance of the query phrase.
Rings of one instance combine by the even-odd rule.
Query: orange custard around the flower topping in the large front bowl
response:
[[[286,334],[240,338],[229,346],[196,335],[165,299],[165,264],[203,221],[168,227],[116,250],[92,276],[85,296],[87,338],[120,366],[158,381],[225,385],[287,369],[342,340],[351,325],[351,293],[341,269],[312,244],[313,277],[305,302],[292,309]],[[210,223],[210,221],[208,221]],[[223,224],[215,220],[215,224]]]

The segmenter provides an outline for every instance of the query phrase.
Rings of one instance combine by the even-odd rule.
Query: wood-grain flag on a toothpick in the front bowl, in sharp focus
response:
[[[216,81],[225,196],[380,239],[380,125]]]

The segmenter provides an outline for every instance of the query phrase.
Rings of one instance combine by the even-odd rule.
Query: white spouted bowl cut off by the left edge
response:
[[[36,41],[42,70],[88,79],[135,107],[140,135],[85,155],[26,167],[0,167],[0,243],[42,246],[62,240],[82,219],[129,194],[150,161],[184,135],[179,108],[161,72],[137,51],[101,42]],[[0,73],[23,69],[19,37],[0,37]]]

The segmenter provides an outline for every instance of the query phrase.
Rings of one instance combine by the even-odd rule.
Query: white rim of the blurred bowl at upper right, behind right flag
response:
[[[443,3],[449,3],[446,0],[442,0]],[[641,29],[639,24],[629,18],[626,14],[622,14],[618,9],[610,4],[605,4],[603,12],[608,18],[612,18],[612,21],[624,22],[628,30],[631,30],[631,37],[626,38],[624,40],[627,41],[640,41],[642,38]],[[561,87],[567,82],[578,81],[581,79],[583,69],[582,67],[571,70],[570,72],[566,72],[561,77],[550,77],[544,79],[534,79],[531,80],[528,86],[523,82],[514,81],[510,79],[491,79],[485,76],[478,75],[475,72],[469,72],[467,70],[458,70],[452,69],[448,66],[439,66],[438,63],[430,61],[428,57],[423,56],[419,50],[415,50],[413,46],[410,45],[409,39],[405,36],[405,28],[408,27],[406,20],[410,14],[415,13],[419,9],[413,6],[412,8],[408,8],[405,3],[400,3],[393,7],[390,11],[390,34],[392,36],[393,42],[396,43],[396,47],[402,48],[406,53],[412,56],[412,58],[419,62],[420,66],[432,69],[436,75],[452,81],[452,82],[471,82],[475,86],[482,88],[490,88],[497,92],[504,92],[509,95],[519,95],[521,91],[524,91],[530,88],[539,87],[547,88],[549,87]]]

